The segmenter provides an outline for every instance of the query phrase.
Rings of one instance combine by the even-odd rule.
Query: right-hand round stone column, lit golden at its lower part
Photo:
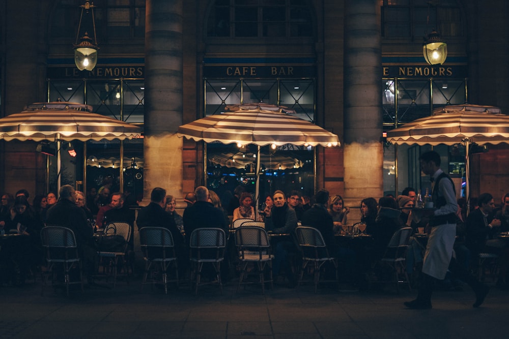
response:
[[[377,0],[345,2],[345,203],[383,195],[382,50]],[[353,211],[352,220],[358,211]],[[350,218],[349,218],[350,220]]]

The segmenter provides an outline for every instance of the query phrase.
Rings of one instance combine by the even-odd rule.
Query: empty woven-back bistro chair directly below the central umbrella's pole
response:
[[[245,224],[245,223],[244,223]],[[235,230],[235,244],[239,252],[239,260],[241,265],[241,273],[237,292],[241,284],[246,284],[244,278],[247,275],[248,264],[256,264],[258,274],[260,276],[260,284],[262,285],[262,293],[265,294],[265,283],[272,285],[272,259],[274,256],[270,254],[270,243],[267,231],[258,226],[244,226]],[[265,280],[265,268],[269,267],[269,280]],[[249,284],[249,283],[247,283]]]

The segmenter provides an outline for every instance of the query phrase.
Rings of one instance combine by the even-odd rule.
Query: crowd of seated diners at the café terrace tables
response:
[[[19,190],[15,195],[4,193],[0,206],[0,229],[5,233],[25,235],[29,252],[21,268],[6,264],[6,261],[11,262],[12,258],[8,253],[4,253],[5,251],[2,252],[2,269],[6,273],[3,274],[2,284],[18,284],[41,270],[44,253],[40,231],[45,225],[56,224],[71,228],[83,256],[84,269],[90,272],[96,269],[93,233],[108,222],[122,221],[134,225],[135,221],[134,210],[129,207],[137,204],[137,201],[128,193],[111,191],[111,185],[107,182],[100,188],[92,188],[87,194],[66,185],[60,192],[36,195],[32,203],[29,202],[30,195],[26,190]],[[234,191],[229,201],[221,201],[212,190],[197,187],[194,192],[185,195],[187,207],[181,215],[176,210],[177,198],[167,195],[163,188],[155,188],[151,193],[150,203],[139,209],[136,224],[138,229],[158,225],[172,232],[179,258],[180,276],[186,276],[189,268],[188,238],[194,229],[217,227],[224,229],[228,235],[232,221],[262,221],[267,231],[287,235],[272,238],[275,240],[272,244],[275,256],[272,270],[274,280],[289,287],[296,285],[296,271],[299,268],[299,246],[294,236],[295,230],[298,225],[314,227],[321,232],[329,255],[337,258],[340,263],[340,281],[362,289],[367,287],[373,275],[387,273],[380,265],[380,259],[394,232],[402,227],[411,227],[413,233],[428,232],[426,218],[419,218],[417,215],[415,200],[416,190],[413,188],[406,188],[401,195],[395,197],[389,195],[379,199],[362,199],[358,205],[360,221],[350,223],[350,207],[345,206],[340,195],[329,194],[324,189],[316,192],[313,197],[302,196],[296,190],[287,194],[275,190],[262,198],[263,204],[257,211],[254,208],[253,195],[245,192],[241,186]],[[495,206],[489,193],[471,199],[470,206],[472,208],[467,216],[464,199],[458,200],[455,243],[457,260],[465,267],[474,268],[478,264],[479,253],[497,254],[497,286],[507,288],[507,242],[497,238],[496,234],[509,231],[509,193],[502,197],[499,207]],[[68,210],[72,211],[72,214],[68,215],[66,220],[62,215]],[[56,211],[58,215],[55,214]],[[356,234],[367,236],[363,237],[362,241],[353,241],[351,238]],[[132,251],[132,239],[130,245]],[[422,243],[412,238],[406,261],[410,276],[419,274],[423,250]],[[235,274],[235,269],[232,269],[236,264],[235,250],[229,249],[226,256],[222,269],[224,281],[228,281]],[[18,273],[15,272],[16,269]],[[16,274],[22,275],[21,279],[16,278]],[[461,289],[462,283],[454,276],[447,276],[443,287]]]

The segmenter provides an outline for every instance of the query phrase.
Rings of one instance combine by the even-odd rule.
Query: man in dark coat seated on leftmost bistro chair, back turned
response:
[[[76,246],[87,273],[93,273],[96,255],[94,230],[87,222],[87,215],[76,205],[76,192],[71,185],[60,188],[60,199],[46,214],[46,225],[58,225],[71,229]]]

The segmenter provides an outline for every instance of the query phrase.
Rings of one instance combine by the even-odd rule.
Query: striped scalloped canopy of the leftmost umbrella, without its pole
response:
[[[140,135],[137,126],[92,113],[92,106],[68,102],[35,103],[0,118],[0,139],[6,141],[124,140]]]

